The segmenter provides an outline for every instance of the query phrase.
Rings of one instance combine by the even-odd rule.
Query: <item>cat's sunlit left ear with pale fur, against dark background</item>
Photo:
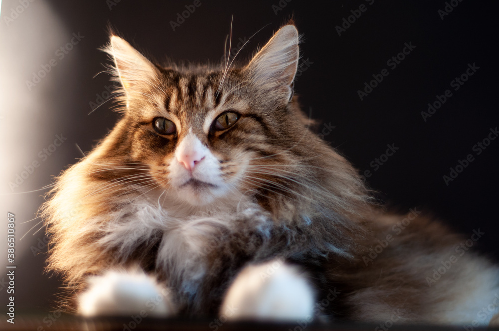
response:
[[[124,39],[111,35],[104,49],[114,61],[115,78],[121,83],[127,98],[127,107],[140,85],[157,77],[157,68]]]

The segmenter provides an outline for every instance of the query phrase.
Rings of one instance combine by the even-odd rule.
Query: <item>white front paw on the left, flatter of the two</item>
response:
[[[78,296],[83,316],[166,317],[176,313],[169,290],[143,272],[108,271],[88,279],[89,288]]]

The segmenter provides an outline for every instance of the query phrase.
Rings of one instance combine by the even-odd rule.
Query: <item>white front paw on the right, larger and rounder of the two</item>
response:
[[[229,320],[311,318],[315,293],[297,267],[273,260],[248,266],[236,277],[220,315]]]

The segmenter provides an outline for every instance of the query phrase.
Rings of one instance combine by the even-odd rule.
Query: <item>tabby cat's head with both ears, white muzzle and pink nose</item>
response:
[[[203,205],[265,185],[302,135],[302,119],[288,107],[299,56],[293,25],[242,67],[228,60],[163,68],[115,35],[106,51],[124,114],[109,153],[149,165],[149,183],[183,201]]]

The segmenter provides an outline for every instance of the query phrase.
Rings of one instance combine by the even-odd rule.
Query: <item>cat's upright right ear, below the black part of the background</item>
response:
[[[298,68],[298,31],[286,25],[277,31],[245,68],[256,86],[292,96],[292,83]]]

